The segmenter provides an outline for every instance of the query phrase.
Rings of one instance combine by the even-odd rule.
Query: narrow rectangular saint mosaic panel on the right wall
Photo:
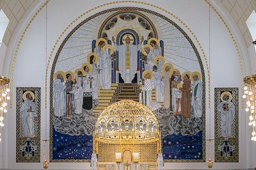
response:
[[[215,162],[239,162],[238,88],[214,90]]]

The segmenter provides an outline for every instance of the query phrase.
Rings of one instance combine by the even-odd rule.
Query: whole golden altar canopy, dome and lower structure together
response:
[[[156,162],[160,152],[158,120],[150,109],[133,100],[109,105],[98,117],[94,131],[99,162],[122,162],[127,150],[134,162],[134,155],[138,155],[136,162]]]

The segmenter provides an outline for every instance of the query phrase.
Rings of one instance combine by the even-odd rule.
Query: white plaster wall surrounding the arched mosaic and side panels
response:
[[[41,5],[45,1],[42,1]],[[47,57],[51,52],[55,41],[60,36],[61,32],[79,15],[84,13],[85,11],[90,10],[93,7],[101,5],[103,3],[107,3],[110,1],[68,1],[68,0],[52,0],[48,4],[48,31],[47,31]],[[147,0],[143,2],[148,2],[157,6],[164,8],[167,11],[172,12],[172,14],[176,15],[179,19],[181,19],[188,27],[195,33],[197,39],[200,41],[205,53],[207,54],[208,63],[209,63],[209,8],[207,3],[201,0],[193,0],[193,1],[152,1]],[[214,3],[215,6],[218,7],[217,3]],[[192,41],[196,45],[197,50],[200,53],[202,61],[204,63],[206,80],[207,77],[207,67],[205,65],[205,60],[203,58],[203,54],[200,51],[199,45],[196,43],[195,39],[192,37],[191,33],[185,28],[179,21],[172,18],[166,12],[163,12],[159,9],[139,5],[138,3],[119,3],[110,6],[104,6],[102,8],[98,8],[89,14],[86,14],[83,18],[77,20],[75,24],[65,32],[65,35],[61,37],[59,44],[55,48],[53,53],[53,57],[51,59],[50,66],[53,62],[53,58],[59,48],[61,42],[64,40],[65,36],[82,20],[88,18],[90,15],[93,15],[101,10],[105,10],[106,8],[117,7],[117,6],[136,6],[148,8],[150,10],[159,12],[162,15],[167,16],[168,18],[174,20],[184,31],[191,37]],[[38,5],[38,8],[40,4]],[[11,66],[13,61],[13,56],[15,53],[15,46],[18,44],[19,37],[22,35],[24,28],[27,23],[30,22],[30,19],[35,14],[35,9],[31,11],[31,15],[28,15],[27,19],[23,20],[23,23],[20,24],[20,27],[16,28],[15,35],[13,40],[10,42],[6,57],[5,63],[3,67],[3,74],[9,75],[11,73]],[[221,7],[218,10],[222,10]],[[225,11],[223,11],[225,14]],[[49,135],[49,94],[47,95],[47,109],[44,109],[44,84],[45,84],[45,73],[46,73],[46,12],[45,8],[36,16],[34,21],[31,23],[28,28],[26,35],[20,45],[18,56],[16,58],[15,69],[14,69],[14,86],[13,86],[13,108],[10,109],[9,114],[5,116],[6,124],[5,131],[2,133],[4,137],[2,138],[2,143],[0,143],[0,168],[13,168],[13,169],[39,169],[42,168],[42,163],[15,163],[15,90],[16,87],[41,87],[42,88],[42,110],[41,110],[41,138],[45,138],[45,133],[47,133],[47,138]],[[229,19],[229,16],[225,15],[225,19],[228,20],[230,24],[230,29],[234,32],[234,36],[237,40],[241,40],[242,35],[237,32],[236,27],[233,27],[232,20]],[[207,129],[206,138],[209,138],[209,130],[211,131],[212,138],[214,135],[214,87],[240,87],[241,88],[241,71],[240,71],[240,62],[238,61],[237,52],[234,48],[233,41],[229,36],[229,33],[218,18],[218,16],[211,10],[211,50],[210,50],[210,79],[211,79],[211,109],[208,109],[208,82],[206,82],[206,122]],[[245,48],[243,42],[241,41],[238,44],[240,47],[240,52],[243,54],[243,61],[249,61],[249,54],[247,52],[247,48]],[[48,61],[48,58],[47,58]],[[246,74],[250,74],[251,65],[250,62],[244,62],[243,67],[246,67]],[[51,69],[48,70],[48,82],[49,75],[51,73]],[[228,76],[226,76],[228,75]],[[49,86],[48,92],[49,92]],[[47,131],[45,131],[46,118],[47,114]],[[240,117],[239,117],[239,125],[240,125],[240,163],[214,163],[214,168],[216,169],[231,169],[231,168],[253,168],[256,167],[255,156],[251,156],[251,154],[256,149],[256,144],[251,143],[250,141],[250,130],[247,126],[248,116],[244,113],[241,107],[241,99],[240,99]],[[211,120],[211,124],[209,124],[209,120]],[[251,150],[249,146],[252,146],[254,150]],[[47,146],[48,148],[48,146]],[[48,153],[48,151],[47,151]],[[41,157],[43,159],[43,145],[42,145],[42,154]],[[255,158],[255,159],[254,159]],[[58,168],[58,169],[86,169],[89,168],[89,163],[50,163],[50,168]],[[207,168],[206,163],[165,163],[164,168],[166,169],[203,169]]]

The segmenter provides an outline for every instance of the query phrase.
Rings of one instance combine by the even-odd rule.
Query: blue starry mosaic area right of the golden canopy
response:
[[[167,135],[162,144],[163,159],[203,159],[203,131],[195,135]]]

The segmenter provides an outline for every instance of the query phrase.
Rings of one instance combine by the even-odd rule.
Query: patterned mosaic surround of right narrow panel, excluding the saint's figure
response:
[[[218,104],[221,103],[220,96],[222,92],[228,91],[232,94],[232,103],[235,107],[235,117],[232,124],[232,138],[221,137],[221,113],[217,110]],[[239,111],[239,92],[238,88],[214,88],[214,156],[216,163],[238,163],[239,162],[239,124],[238,124],[238,111]],[[230,156],[221,156],[222,152],[226,150],[233,151]],[[228,152],[227,150],[225,152]]]

